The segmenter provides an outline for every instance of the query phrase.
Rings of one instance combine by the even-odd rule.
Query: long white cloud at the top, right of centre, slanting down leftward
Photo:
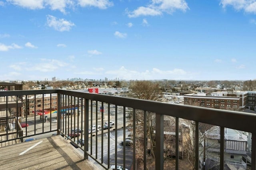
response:
[[[163,12],[172,14],[176,10],[186,12],[188,9],[186,0],[151,0],[151,3],[146,7],[140,6],[132,12],[127,10],[126,12],[129,18],[134,18],[139,16],[160,16]]]

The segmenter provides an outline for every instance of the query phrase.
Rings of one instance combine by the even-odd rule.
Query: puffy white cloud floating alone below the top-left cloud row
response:
[[[75,26],[71,21],[57,19],[51,15],[47,16],[47,25],[53,27],[56,31],[69,31],[71,27]]]

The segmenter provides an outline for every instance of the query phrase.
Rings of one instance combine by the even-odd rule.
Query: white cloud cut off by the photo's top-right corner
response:
[[[221,0],[222,8],[232,6],[235,10],[256,14],[256,0]]]

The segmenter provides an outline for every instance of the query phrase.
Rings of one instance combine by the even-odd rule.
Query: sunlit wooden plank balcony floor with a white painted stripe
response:
[[[0,169],[98,169],[60,136],[2,147],[0,153]]]

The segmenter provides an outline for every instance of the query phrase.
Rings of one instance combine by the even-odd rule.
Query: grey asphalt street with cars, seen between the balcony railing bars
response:
[[[100,112],[100,106],[101,104],[98,104],[98,120],[96,120],[96,105],[93,105],[92,108],[92,117],[91,116],[91,108],[89,105],[89,120],[88,120],[88,124],[89,124],[89,129],[90,129],[90,125],[91,125],[91,119],[92,119],[92,124],[95,125],[96,122],[98,123],[98,125],[102,125],[102,119],[101,119],[101,115],[102,113]],[[68,135],[68,133],[71,133],[71,129],[76,129],[76,128],[80,128],[84,130],[84,115],[80,114],[78,115],[78,110],[81,111],[82,108],[80,107],[79,109],[75,110],[76,115],[67,115],[66,117],[61,117],[61,129],[62,132]],[[104,107],[104,115],[103,115],[103,125],[106,121],[108,121],[108,114],[106,113],[106,111],[108,110],[108,107]],[[83,111],[84,113],[84,108]],[[57,114],[56,113],[52,113],[51,115],[52,119],[57,119]],[[83,120],[82,120],[83,118]],[[57,130],[57,123],[56,122],[52,122],[50,119],[50,114],[47,115],[47,120],[44,121],[43,123],[43,119],[40,119],[39,115],[36,115],[36,117],[28,117],[27,118],[27,122],[24,121],[25,119],[23,119],[23,121],[21,123],[27,123],[28,126],[27,127],[23,127],[23,134],[24,135],[34,135],[34,134],[38,134],[38,133],[42,133],[42,132],[47,132],[51,130]],[[72,121],[71,121],[72,120]],[[74,121],[75,120],[75,121]],[[118,106],[117,109],[117,122],[115,122],[115,106],[114,105],[110,105],[110,120],[109,121],[113,121],[115,124],[113,125],[113,128],[110,129],[110,134],[109,134],[109,138],[110,138],[110,166],[115,164],[115,149],[117,148],[117,164],[118,165],[123,165],[123,152],[125,149],[126,155],[125,155],[125,163],[126,163],[126,168],[130,169],[132,166],[132,147],[129,146],[122,146],[121,145],[121,141],[123,141],[123,126],[124,126],[124,113],[123,113],[123,107]],[[75,123],[75,124],[74,124]],[[126,123],[126,125],[128,125],[128,123]],[[64,128],[64,129],[63,129]],[[66,131],[65,131],[66,128]],[[115,130],[114,129],[118,129],[117,130],[117,146],[115,147]],[[92,155],[96,156],[96,143],[97,143],[97,157],[98,159],[101,159],[101,154],[102,154],[102,147],[103,147],[103,162],[105,164],[108,163],[108,129],[104,130],[103,133],[103,138],[101,136],[102,130],[101,128],[98,131],[98,136],[96,137],[96,133],[93,133],[94,136],[92,136]],[[41,135],[36,135],[33,137],[27,137],[24,138],[24,140],[29,139],[29,138],[36,138],[36,139],[40,139],[40,138],[44,138],[44,137],[49,137],[50,135],[54,134],[55,132],[52,133],[44,133]],[[126,137],[128,136],[130,132],[128,130],[126,130]],[[81,133],[81,135],[79,137],[75,137],[73,139],[71,139],[72,141],[77,141],[80,138],[83,138],[84,136],[84,132]],[[91,148],[91,134],[89,134],[89,152],[90,152],[90,148]],[[97,139],[97,142],[96,142]],[[102,145],[102,140],[103,140],[103,146]],[[79,149],[79,148],[78,148]],[[79,149],[81,152],[83,152],[81,149]],[[89,158],[90,160],[92,160],[91,158]],[[92,160],[94,162],[94,160]]]

